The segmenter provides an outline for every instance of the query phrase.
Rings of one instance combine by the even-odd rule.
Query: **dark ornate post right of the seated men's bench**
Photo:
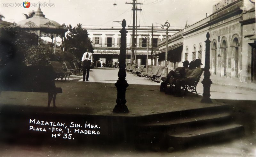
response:
[[[212,99],[210,98],[210,87],[212,84],[212,81],[210,79],[211,73],[210,73],[210,34],[207,32],[206,34],[206,41],[205,42],[205,63],[204,63],[204,79],[202,81],[202,84],[204,86],[204,93],[203,98],[201,102],[204,103],[212,103]]]

